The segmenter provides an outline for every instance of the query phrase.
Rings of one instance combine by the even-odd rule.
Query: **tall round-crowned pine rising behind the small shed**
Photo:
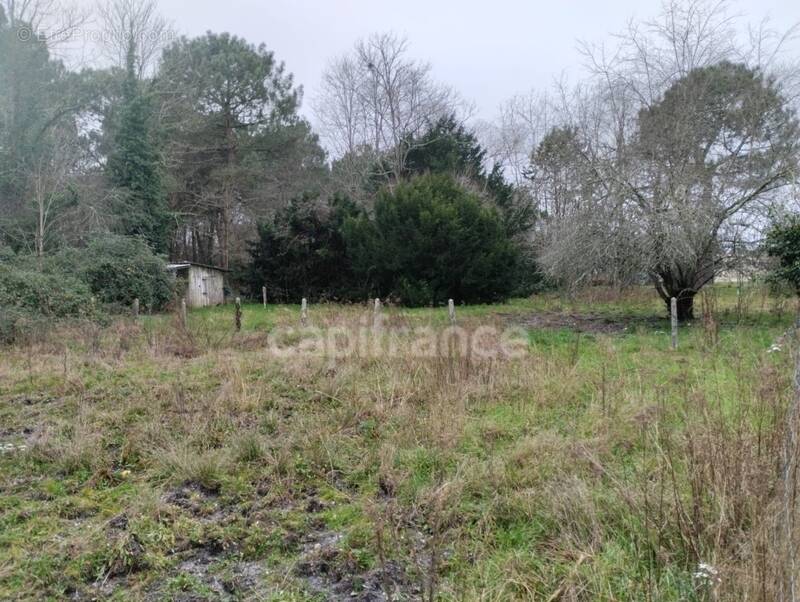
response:
[[[236,266],[253,226],[287,198],[316,190],[324,174],[324,153],[298,115],[302,89],[263,44],[212,32],[170,45],[158,82],[169,99],[170,195],[191,215],[176,247]]]

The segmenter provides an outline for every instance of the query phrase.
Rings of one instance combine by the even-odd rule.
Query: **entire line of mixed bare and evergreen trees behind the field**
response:
[[[25,35],[45,1],[0,0],[0,257],[26,270],[114,235],[275,299],[647,280],[689,319],[703,286],[767,248],[797,178],[800,69],[772,32],[738,43],[724,3],[671,3],[610,54],[586,45],[577,85],[479,130],[404,39],[373,35],[326,69],[317,133],[264,45],[176,37],[155,0],[110,0],[109,65],[69,70],[58,37]],[[58,14],[62,34],[85,17]]]

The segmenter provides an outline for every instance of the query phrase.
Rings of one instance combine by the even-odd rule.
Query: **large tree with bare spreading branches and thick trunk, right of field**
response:
[[[585,209],[550,224],[551,274],[638,270],[692,317],[694,295],[797,166],[792,70],[769,39],[757,52],[737,44],[724,2],[689,0],[629,24],[611,50],[584,47],[592,77],[562,115],[596,185],[582,191]]]

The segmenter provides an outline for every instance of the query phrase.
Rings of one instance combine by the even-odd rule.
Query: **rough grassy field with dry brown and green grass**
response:
[[[385,354],[291,306],[54,327],[0,349],[0,599],[777,599],[795,310],[718,287],[673,351],[650,289],[457,308],[513,357],[422,353],[446,308],[310,307]]]

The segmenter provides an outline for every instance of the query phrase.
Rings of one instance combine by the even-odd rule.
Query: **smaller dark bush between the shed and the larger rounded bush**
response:
[[[356,297],[362,288],[347,260],[342,225],[360,214],[345,197],[328,202],[304,197],[259,225],[244,276],[252,296],[260,296],[266,285],[275,301]]]

